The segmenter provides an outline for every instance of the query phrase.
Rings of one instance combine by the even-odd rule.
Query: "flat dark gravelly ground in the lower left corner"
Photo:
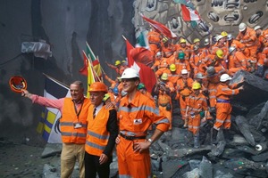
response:
[[[53,158],[41,158],[44,148],[0,142],[0,177],[42,177],[43,167]]]

